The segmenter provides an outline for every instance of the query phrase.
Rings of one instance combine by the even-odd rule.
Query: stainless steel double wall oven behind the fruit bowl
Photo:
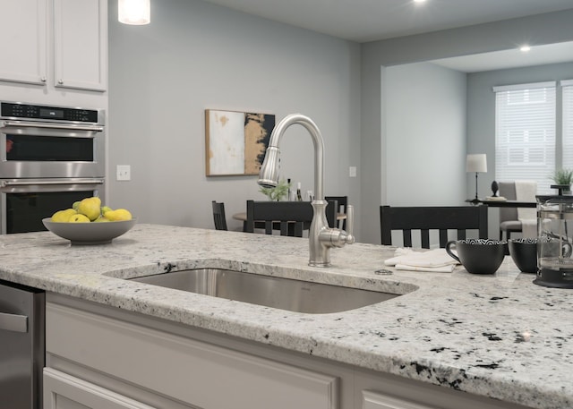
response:
[[[56,210],[105,200],[104,115],[0,101],[0,234],[46,230]]]

